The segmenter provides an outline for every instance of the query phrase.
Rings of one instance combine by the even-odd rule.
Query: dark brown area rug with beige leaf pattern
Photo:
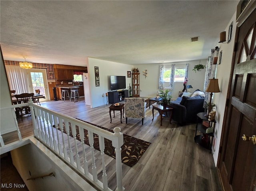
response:
[[[76,119],[78,119],[78,118],[76,118]],[[95,125],[93,123],[90,123],[90,122],[87,122],[87,121],[84,121],[84,120],[81,120],[81,119],[78,119],[78,120],[114,133],[114,131],[112,131],[108,128],[104,128],[102,126]],[[69,126],[69,128],[70,128],[70,126]],[[59,125],[58,125],[58,130],[60,130]],[[78,126],[76,126],[76,132],[77,132],[76,134],[78,135],[77,140],[80,140]],[[64,133],[66,133],[65,126],[64,126]],[[72,136],[71,128],[70,128],[70,136]],[[84,138],[84,143],[89,145],[87,130],[84,130],[84,137],[85,137]],[[93,137],[94,137],[94,145],[93,145],[94,148],[96,150],[100,150],[98,135],[93,134]],[[116,158],[116,152],[115,152],[115,148],[112,146],[112,141],[104,138],[104,142],[105,142],[104,153],[107,154],[108,156]],[[150,142],[146,142],[144,140],[137,139],[137,138],[134,138],[132,136],[124,134],[124,144],[121,147],[122,148],[122,151],[121,151],[122,163],[124,163],[124,164],[126,164],[130,167],[135,165],[138,162],[138,160],[141,158],[141,156],[144,154],[144,152],[146,151],[146,149],[148,148],[148,146],[150,144],[151,144]]]

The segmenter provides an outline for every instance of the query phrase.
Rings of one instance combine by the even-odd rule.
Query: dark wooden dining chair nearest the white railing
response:
[[[14,95],[17,99],[18,104],[27,103],[28,99],[34,100],[34,93],[22,93]],[[15,108],[16,118],[20,118],[23,121],[23,115],[30,114],[30,107],[29,106],[21,106]]]

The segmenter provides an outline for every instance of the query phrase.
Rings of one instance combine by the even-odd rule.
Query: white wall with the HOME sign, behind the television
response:
[[[100,86],[95,85],[94,67],[99,67]],[[106,104],[106,93],[110,91],[110,75],[126,76],[126,88],[132,84],[132,78],[127,78],[127,71],[132,71],[132,65],[88,58],[88,75],[90,83],[91,107]],[[104,95],[104,97],[102,97]]]

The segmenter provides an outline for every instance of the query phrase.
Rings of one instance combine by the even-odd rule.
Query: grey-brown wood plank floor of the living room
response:
[[[114,129],[118,126],[121,132],[151,142],[152,144],[133,167],[122,165],[123,186],[126,191],[220,191],[222,187],[214,165],[212,154],[194,142],[196,124],[178,126],[175,121],[170,124],[167,117],[163,117],[160,126],[160,116],[154,110],[152,121],[152,108],[146,108],[144,125],[141,119],[125,118],[120,123],[120,112],[110,123],[108,105],[90,108],[79,102],[50,101],[42,102],[42,106],[80,118],[105,128]],[[19,120],[22,136],[32,134],[29,120],[30,116]],[[30,129],[30,130],[29,130]],[[25,133],[24,133],[25,132]],[[8,139],[12,137],[8,135]],[[4,139],[7,139],[4,137]],[[110,159],[107,168],[111,169],[114,160]],[[113,176],[109,175],[108,176]],[[109,183],[111,189],[115,188],[115,179]]]

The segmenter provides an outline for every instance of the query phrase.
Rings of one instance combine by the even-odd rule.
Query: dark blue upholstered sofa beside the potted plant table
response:
[[[178,122],[181,126],[188,122],[196,122],[196,114],[204,112],[204,97],[196,96],[182,96],[170,103],[173,109],[172,120]]]

